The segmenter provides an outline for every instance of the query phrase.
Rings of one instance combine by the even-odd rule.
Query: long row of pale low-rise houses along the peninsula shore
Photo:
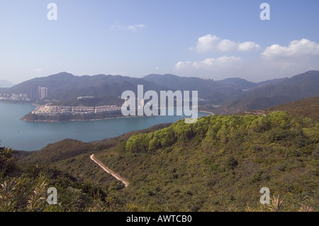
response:
[[[85,107],[85,106],[38,106],[32,111],[32,114],[35,115],[44,115],[44,116],[52,116],[52,115],[60,115],[60,114],[71,114],[71,115],[84,115],[91,113],[103,113],[103,112],[111,112],[111,111],[121,111],[121,107],[116,105],[111,106],[97,106],[97,107]]]

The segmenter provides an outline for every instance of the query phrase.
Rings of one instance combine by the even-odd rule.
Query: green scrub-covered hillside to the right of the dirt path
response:
[[[130,181],[123,198],[136,210],[267,210],[264,186],[280,194],[281,210],[318,210],[318,141],[319,123],[280,111],[211,115],[133,135],[96,157]]]

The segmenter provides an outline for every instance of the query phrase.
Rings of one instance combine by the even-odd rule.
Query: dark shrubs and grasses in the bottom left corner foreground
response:
[[[0,211],[103,211],[107,196],[96,183],[78,181],[57,169],[16,164],[13,151],[0,149]],[[47,189],[58,191],[57,205],[47,203]]]

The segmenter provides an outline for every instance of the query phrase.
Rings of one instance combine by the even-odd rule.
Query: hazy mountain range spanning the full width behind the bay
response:
[[[23,81],[2,92],[28,94],[38,86],[48,88],[47,98],[72,101],[79,96],[118,97],[123,91],[144,90],[198,91],[199,108],[213,113],[229,114],[267,108],[301,98],[319,96],[319,71],[308,71],[290,78],[252,82],[238,77],[214,81],[198,77],[179,77],[174,74],[148,74],[142,78],[96,74],[75,76],[67,72]],[[240,103],[242,102],[242,103]],[[220,106],[217,107],[216,106]]]

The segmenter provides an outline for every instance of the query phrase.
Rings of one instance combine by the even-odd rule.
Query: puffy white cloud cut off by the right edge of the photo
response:
[[[319,55],[319,44],[307,39],[293,40],[289,46],[272,45],[262,52],[262,57],[267,59],[313,55]]]

